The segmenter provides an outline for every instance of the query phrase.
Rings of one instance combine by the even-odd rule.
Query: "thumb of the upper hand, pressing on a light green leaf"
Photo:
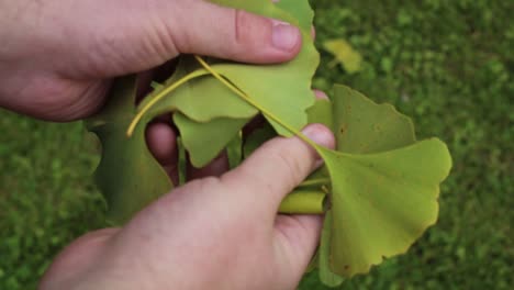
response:
[[[174,13],[178,26],[170,32],[180,53],[278,63],[291,59],[301,47],[299,29],[284,22],[206,1],[188,1],[181,10]]]

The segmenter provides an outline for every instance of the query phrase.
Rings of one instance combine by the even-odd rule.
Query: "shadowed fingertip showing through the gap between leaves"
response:
[[[148,148],[168,174],[174,185],[178,185],[177,133],[164,122],[153,123],[146,130]]]

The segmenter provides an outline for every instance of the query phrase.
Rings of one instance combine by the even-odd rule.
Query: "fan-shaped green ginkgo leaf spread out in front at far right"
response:
[[[368,272],[403,254],[437,220],[439,183],[451,167],[446,145],[427,140],[386,153],[320,149],[332,178],[332,270]]]

